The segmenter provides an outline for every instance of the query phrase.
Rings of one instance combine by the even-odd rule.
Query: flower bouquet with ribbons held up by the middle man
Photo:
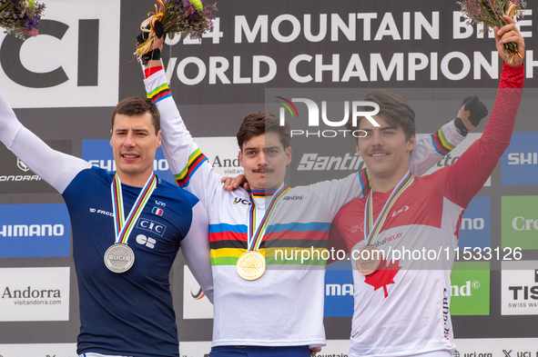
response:
[[[137,44],[135,55],[138,60],[153,45],[156,21],[161,23],[165,34],[180,33],[194,39],[213,30],[214,15],[211,11],[217,11],[215,4],[204,6],[200,0],[157,0],[157,3],[160,4],[159,9],[155,5],[155,14],[147,14],[151,16],[140,25],[142,32],[147,33],[147,40]]]

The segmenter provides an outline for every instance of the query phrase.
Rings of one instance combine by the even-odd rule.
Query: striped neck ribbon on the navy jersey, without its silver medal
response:
[[[133,204],[131,212],[125,217],[125,210],[123,208],[123,193],[121,192],[121,181],[114,175],[114,180],[110,184],[110,191],[112,193],[112,210],[114,212],[114,228],[116,233],[116,243],[127,244],[129,234],[133,231],[135,223],[138,217],[144,210],[151,193],[157,187],[157,176],[151,174],[147,183],[144,184],[142,190],[138,194],[137,201]]]

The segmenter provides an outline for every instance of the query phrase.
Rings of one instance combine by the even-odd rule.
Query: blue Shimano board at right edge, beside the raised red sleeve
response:
[[[538,184],[538,132],[513,133],[502,154],[502,185]]]

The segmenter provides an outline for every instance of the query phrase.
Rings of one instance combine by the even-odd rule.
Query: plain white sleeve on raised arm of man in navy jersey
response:
[[[66,190],[76,174],[91,167],[91,164],[82,159],[51,149],[26,129],[18,121],[2,93],[0,93],[0,140],[59,193]]]

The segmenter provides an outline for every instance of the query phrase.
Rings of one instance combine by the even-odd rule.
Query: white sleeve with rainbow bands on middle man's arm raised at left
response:
[[[220,175],[194,143],[178,105],[172,98],[165,72],[158,71],[144,81],[147,97],[157,104],[161,118],[162,149],[179,187],[194,193],[209,211],[218,192],[223,190]]]

